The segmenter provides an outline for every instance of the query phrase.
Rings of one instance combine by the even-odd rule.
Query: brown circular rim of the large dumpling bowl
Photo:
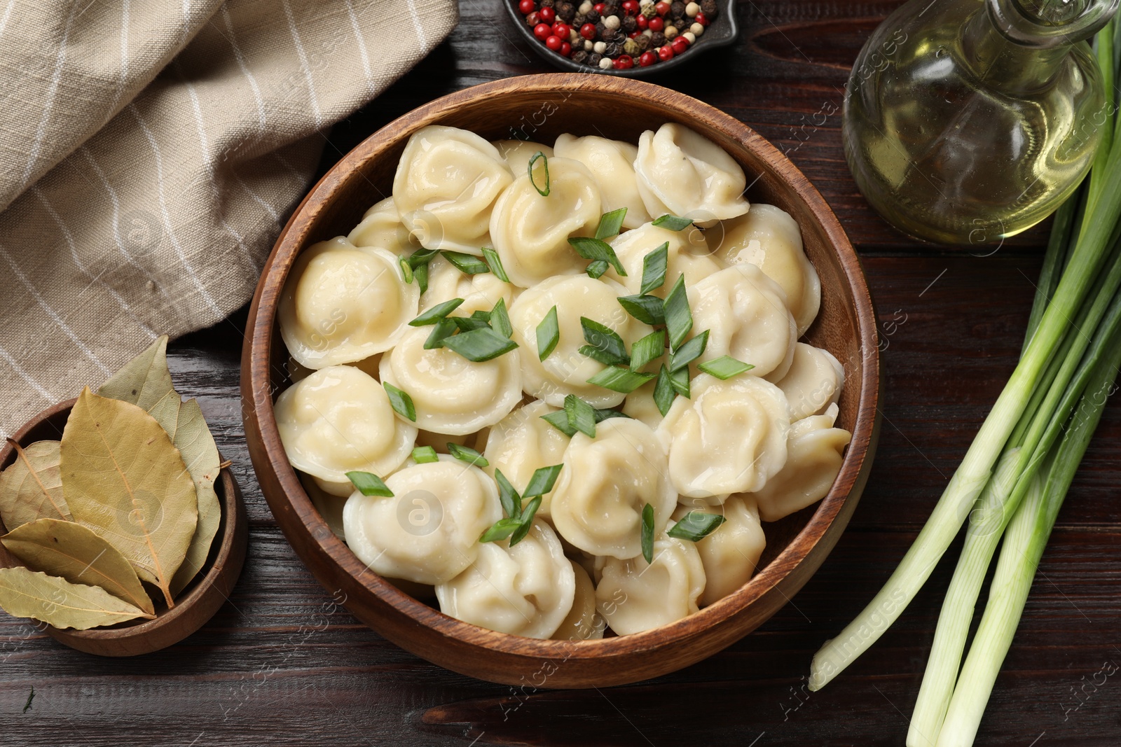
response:
[[[363,164],[370,160],[371,153],[377,155],[373,151],[402,141],[406,134],[410,134],[420,127],[439,122],[444,115],[453,113],[456,108],[467,101],[489,97],[502,92],[510,86],[511,80],[517,81],[519,93],[538,95],[566,92],[569,94],[585,92],[622,94],[648,100],[655,99],[665,102],[668,109],[702,112],[706,119],[706,125],[722,131],[732,141],[753,151],[758,158],[767,162],[772,171],[782,174],[784,186],[789,188],[797,199],[804,202],[819,222],[827,242],[837,256],[841,272],[853,296],[854,333],[859,351],[856,365],[861,370],[862,385],[858,393],[856,421],[852,424],[852,441],[830,493],[817,504],[806,525],[798,531],[787,547],[738,591],[698,613],[641,633],[575,642],[527,638],[457,620],[444,615],[438,608],[414,599],[377,573],[371,572],[348,545],[331,532],[326,522],[312,504],[311,497],[300,484],[295,469],[289,465],[280,445],[272,409],[274,387],[270,381],[272,338],[282,280],[287,278],[288,270],[305,243],[299,234],[312,218],[322,212],[323,206],[333,198],[335,192],[346,180],[348,175],[360,170]],[[297,224],[302,222],[304,226],[296,230]],[[276,273],[278,265],[285,263],[287,267],[284,269],[284,278],[270,287],[267,281]],[[308,190],[291,213],[266,260],[253,296],[242,353],[242,415],[247,438],[250,435],[253,436],[261,450],[261,461],[266,463],[266,468],[272,469],[274,476],[285,494],[287,506],[274,506],[274,498],[266,493],[270,510],[274,513],[277,513],[278,508],[291,510],[291,513],[297,515],[296,517],[303,525],[302,531],[318,545],[319,554],[326,555],[336,568],[349,572],[356,583],[378,597],[382,604],[406,615],[418,625],[492,652],[535,657],[543,661],[558,657],[591,660],[609,655],[650,652],[667,643],[680,643],[695,638],[706,629],[728,623],[731,618],[742,614],[756,600],[776,591],[782,594],[782,589],[777,587],[794,572],[799,561],[808,557],[842,512],[850,493],[856,488],[859,495],[859,489],[862,488],[863,480],[867,479],[868,467],[874,455],[879,423],[877,405],[881,380],[880,356],[874,344],[876,339],[876,312],[868,283],[860,259],[841,227],[840,221],[802,171],[752,128],[731,114],[692,96],[643,81],[619,76],[589,76],[581,73],[528,75],[470,86],[411,110],[370,134],[343,156]],[[865,342],[872,344],[869,345]],[[252,456],[254,467],[257,467],[258,454],[253,452]],[[858,499],[856,496],[854,496],[855,499]],[[278,524],[288,534],[290,531],[288,522],[278,519]],[[295,545],[295,543],[293,544]],[[799,552],[795,550],[796,548],[805,548],[805,550]],[[300,560],[307,564],[308,559],[304,557],[299,548],[295,549],[300,555]],[[825,549],[825,552],[827,553],[831,549],[832,544]]]

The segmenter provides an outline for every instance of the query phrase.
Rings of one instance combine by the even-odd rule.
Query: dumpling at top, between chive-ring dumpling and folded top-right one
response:
[[[634,178],[638,148],[629,142],[594,134],[577,138],[567,133],[557,137],[554,148],[560,158],[580,161],[592,172],[595,184],[600,186],[600,194],[603,195],[604,213],[627,208],[627,215],[623,216],[624,228],[637,228],[651,220],[642,196],[638,194]]]

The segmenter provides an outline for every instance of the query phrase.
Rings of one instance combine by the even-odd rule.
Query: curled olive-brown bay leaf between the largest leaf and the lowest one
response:
[[[61,576],[71,583],[100,586],[118,599],[156,614],[128,559],[87,526],[39,519],[8,532],[0,542],[34,571]]]

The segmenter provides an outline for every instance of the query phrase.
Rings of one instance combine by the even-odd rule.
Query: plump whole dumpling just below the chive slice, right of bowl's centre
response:
[[[758,376],[721,381],[704,373],[691,387],[692,399],[677,398],[657,431],[674,488],[707,503],[761,489],[787,460],[782,390]]]

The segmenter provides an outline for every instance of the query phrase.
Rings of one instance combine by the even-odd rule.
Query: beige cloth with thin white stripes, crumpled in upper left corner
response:
[[[0,0],[0,436],[243,305],[447,0]]]

